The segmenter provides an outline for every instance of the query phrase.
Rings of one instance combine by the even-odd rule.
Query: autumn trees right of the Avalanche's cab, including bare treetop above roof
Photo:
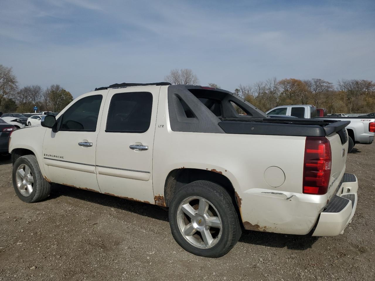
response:
[[[191,69],[174,69],[165,76],[171,84],[199,84]],[[184,83],[184,81],[187,81]],[[210,87],[220,88],[215,83]],[[375,112],[375,83],[365,79],[341,79],[334,85],[324,79],[282,79],[275,77],[253,84],[240,84],[234,93],[262,111],[279,105],[311,104],[328,113]]]

